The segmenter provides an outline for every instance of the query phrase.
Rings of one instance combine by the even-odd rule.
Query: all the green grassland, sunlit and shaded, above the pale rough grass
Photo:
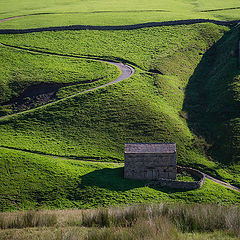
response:
[[[1,18],[57,14],[13,19],[0,28],[237,19],[239,13],[227,9],[239,7],[234,0],[11,4],[14,8],[0,3]],[[179,164],[240,186],[238,40],[239,27],[209,23],[0,35],[1,43],[22,48],[0,46],[0,103],[37,83],[72,84],[56,92],[56,102],[0,118],[0,210],[166,201],[238,204],[238,192],[209,180],[201,189],[179,191],[145,187],[144,181],[122,176],[124,143],[176,142]],[[133,66],[136,73],[71,97],[116,78],[119,71],[90,59],[28,50],[114,60]],[[79,84],[95,79],[100,81]],[[1,106],[2,115],[11,111]]]

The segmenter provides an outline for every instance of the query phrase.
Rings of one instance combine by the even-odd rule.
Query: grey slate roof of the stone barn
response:
[[[126,143],[125,153],[175,153],[176,143]]]

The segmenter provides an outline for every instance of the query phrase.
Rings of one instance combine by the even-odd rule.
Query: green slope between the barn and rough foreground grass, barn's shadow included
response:
[[[201,189],[145,187],[123,178],[123,165],[76,161],[0,148],[0,210],[93,208],[134,203],[240,203],[240,194],[209,180]]]

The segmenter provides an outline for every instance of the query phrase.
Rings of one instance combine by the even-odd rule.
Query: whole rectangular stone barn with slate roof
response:
[[[124,155],[125,178],[176,179],[176,143],[127,143]]]

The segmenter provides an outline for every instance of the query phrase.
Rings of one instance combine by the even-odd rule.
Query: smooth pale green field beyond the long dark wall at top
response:
[[[140,1],[3,1],[0,3],[0,18],[27,14],[24,18],[0,23],[0,28],[37,28],[66,25],[124,25],[180,19],[239,19],[238,0],[185,1],[185,0],[140,0]],[[206,10],[218,10],[202,12]],[[47,13],[47,14],[46,14]]]

